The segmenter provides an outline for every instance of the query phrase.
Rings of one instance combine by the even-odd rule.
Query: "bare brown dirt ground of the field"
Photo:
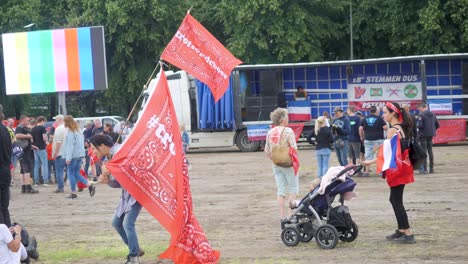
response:
[[[271,164],[262,152],[190,152],[195,214],[213,247],[221,251],[220,263],[467,263],[468,145],[437,146],[434,152],[436,173],[416,174],[416,182],[405,189],[414,245],[385,240],[396,220],[389,189],[374,175],[355,179],[359,196],[348,203],[359,226],[356,241],[340,242],[333,250],[320,249],[314,240],[286,247],[280,240]],[[316,177],[315,150],[304,145],[299,155],[302,196]],[[331,165],[336,164],[332,153]],[[83,192],[78,199],[67,200],[67,193],[52,193],[55,186],[38,189],[36,195],[21,194],[16,180],[10,203],[12,220],[26,224],[39,241],[39,252],[46,252],[35,263],[124,263],[126,252],[110,224],[119,190],[98,185],[94,198]],[[168,245],[168,233],[144,210],[137,230],[147,251],[142,263],[159,263],[157,254]],[[47,259],[51,252],[73,248],[90,252],[120,248],[121,256]]]

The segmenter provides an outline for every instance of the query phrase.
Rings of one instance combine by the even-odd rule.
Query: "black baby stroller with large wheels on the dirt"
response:
[[[297,203],[292,208],[293,214],[281,222],[283,243],[293,247],[315,237],[321,248],[332,249],[338,244],[338,240],[354,241],[358,236],[358,226],[351,219],[348,207],[344,206],[344,194],[354,190],[356,183],[351,177],[362,168],[362,165],[346,167],[332,178],[323,195],[318,193],[317,186]],[[345,174],[343,182],[339,178]],[[337,195],[340,205],[332,207]]]

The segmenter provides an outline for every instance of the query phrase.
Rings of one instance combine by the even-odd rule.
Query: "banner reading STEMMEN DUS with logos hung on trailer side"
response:
[[[366,110],[374,102],[406,102],[416,109],[422,101],[421,76],[408,74],[353,74],[348,78],[348,99],[351,105]],[[360,104],[357,104],[359,102]],[[368,103],[369,105],[367,105]]]

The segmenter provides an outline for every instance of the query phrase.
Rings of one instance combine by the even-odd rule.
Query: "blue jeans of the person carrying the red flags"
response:
[[[131,257],[138,256],[138,251],[140,246],[138,245],[138,236],[136,234],[135,222],[140,214],[141,205],[136,202],[132,205],[130,211],[124,213],[122,216],[118,217],[117,214],[114,214],[112,218],[112,226],[115,228],[117,233],[124,243],[128,246]]]

